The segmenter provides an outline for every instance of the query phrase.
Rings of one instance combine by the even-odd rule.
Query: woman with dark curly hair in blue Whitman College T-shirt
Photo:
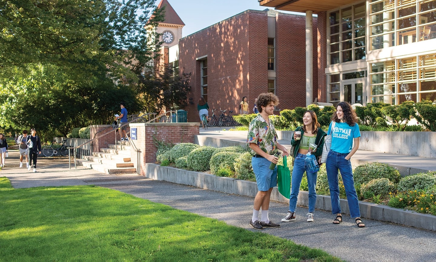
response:
[[[336,112],[332,116],[332,122],[327,134],[331,134],[331,146],[326,161],[327,180],[330,188],[330,201],[332,214],[336,214],[333,224],[342,222],[341,205],[339,202],[338,173],[341,172],[344,182],[345,193],[347,194],[350,216],[355,218],[359,228],[365,224],[360,217],[359,200],[354,187],[353,170],[351,168],[351,157],[359,149],[360,131],[357,124],[356,112],[348,102],[340,102],[336,106]],[[332,124],[335,122],[334,128]],[[354,143],[353,143],[354,142]],[[353,145],[354,144],[354,145]]]

